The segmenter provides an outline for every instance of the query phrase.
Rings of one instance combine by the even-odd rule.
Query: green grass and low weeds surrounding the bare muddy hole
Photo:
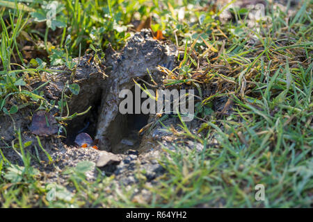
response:
[[[6,147],[19,150],[24,167],[10,163],[0,148],[1,207],[312,207],[312,2],[303,1],[291,16],[289,4],[286,10],[268,4],[266,19],[254,24],[236,9],[232,21],[221,22],[222,8],[204,1],[58,1],[52,20],[45,3],[30,1],[25,8],[24,1],[10,2],[1,1],[0,10],[1,114],[32,104],[51,108],[38,90],[22,89],[28,78],[49,65],[74,70],[72,58],[85,51],[103,58],[109,43],[121,49],[130,22],[152,15],[152,29],[180,51],[179,69],[163,69],[165,85],[194,87],[200,96],[198,133],[184,123],[168,130],[202,149],[182,142],[172,144],[175,151],[163,147],[159,162],[166,173],[153,187],[141,171],[135,173],[139,184],[130,188],[101,174],[88,182],[84,173],[92,166],[82,162],[63,171],[72,173],[71,194],[30,166],[17,129],[19,145]],[[10,104],[12,96],[19,103]],[[227,103],[216,112],[219,98]],[[255,200],[257,184],[265,187],[265,201]],[[54,195],[51,189],[56,201],[46,199]],[[149,190],[152,198],[134,198],[135,189]]]

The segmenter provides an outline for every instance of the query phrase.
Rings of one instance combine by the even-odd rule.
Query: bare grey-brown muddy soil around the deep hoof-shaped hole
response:
[[[18,144],[16,130],[22,133],[22,142],[31,142],[25,147],[26,153],[31,155],[31,164],[45,171],[46,180],[49,182],[65,182],[66,176],[61,172],[65,167],[75,167],[78,162],[88,160],[95,162],[104,173],[114,173],[118,179],[129,184],[136,182],[134,176],[135,166],[142,166],[147,170],[147,178],[152,180],[161,173],[161,166],[157,162],[159,153],[162,152],[157,141],[161,141],[163,133],[158,131],[160,124],[148,135],[139,136],[135,131],[140,130],[155,117],[141,117],[118,113],[121,89],[131,89],[135,83],[133,78],[145,78],[151,83],[147,69],[152,78],[159,85],[162,83],[162,74],[157,69],[158,65],[172,69],[175,66],[175,46],[168,42],[154,40],[150,31],[143,30],[134,34],[124,49],[116,52],[111,47],[106,51],[104,61],[91,58],[86,55],[74,59],[77,69],[69,70],[65,66],[51,67],[52,73],[42,73],[40,76],[30,78],[29,89],[40,88],[42,97],[46,101],[67,100],[68,110],[64,108],[62,114],[54,106],[49,110],[38,110],[38,104],[32,103],[22,108],[11,117],[0,116],[1,151],[10,161],[22,165],[22,157],[18,146],[11,148],[12,144]],[[72,95],[67,85],[76,83],[80,87],[78,95]],[[14,103],[19,103],[18,97],[10,98]],[[89,112],[72,120],[64,120],[61,117],[81,113],[92,107]],[[49,117],[45,126],[45,117]],[[37,119],[36,119],[37,118]],[[49,122],[54,128],[49,128]],[[39,121],[35,123],[35,120]],[[142,122],[138,125],[138,122]],[[44,125],[43,128],[42,124]],[[138,126],[135,126],[135,125]],[[65,130],[66,129],[66,134]],[[42,131],[43,130],[43,131]],[[56,132],[57,131],[57,132]],[[47,133],[48,132],[48,133]],[[49,135],[52,132],[52,135]],[[92,139],[99,139],[97,147],[77,147],[74,140],[79,133],[88,133]],[[136,134],[136,136],[135,136]],[[45,153],[42,148],[48,153]],[[142,141],[141,141],[142,139]],[[103,150],[103,151],[102,151]],[[113,151],[113,153],[111,153]],[[49,162],[51,156],[52,162]],[[136,163],[135,163],[136,162]],[[97,171],[88,175],[93,180]]]

